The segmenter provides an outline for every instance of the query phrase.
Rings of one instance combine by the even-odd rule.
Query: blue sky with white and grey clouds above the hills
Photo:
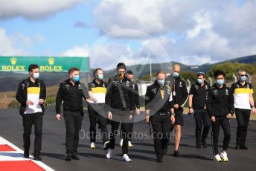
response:
[[[1,0],[1,56],[90,56],[92,67],[256,54],[256,2]]]

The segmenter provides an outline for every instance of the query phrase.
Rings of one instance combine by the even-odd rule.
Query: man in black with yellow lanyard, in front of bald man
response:
[[[156,82],[145,95],[146,122],[152,123],[156,161],[162,162],[170,138],[170,123],[175,122],[175,117],[172,91],[164,81],[164,72],[159,71],[156,76]]]

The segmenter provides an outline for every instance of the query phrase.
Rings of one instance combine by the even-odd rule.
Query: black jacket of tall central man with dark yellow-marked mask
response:
[[[122,81],[118,76],[110,78],[106,90],[106,111],[132,110],[134,103],[132,91],[132,80],[127,77]]]

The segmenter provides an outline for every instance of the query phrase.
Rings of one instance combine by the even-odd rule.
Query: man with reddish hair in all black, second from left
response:
[[[83,121],[83,98],[89,101],[88,88],[80,83],[80,70],[70,68],[69,79],[60,83],[56,97],[56,119],[60,120],[60,107],[63,103],[63,116],[65,120],[65,161],[79,160],[77,146],[79,132]]]

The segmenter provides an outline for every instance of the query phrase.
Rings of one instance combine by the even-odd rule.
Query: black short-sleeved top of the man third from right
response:
[[[206,81],[203,86],[197,83],[197,81],[191,85],[189,94],[193,95],[192,105],[194,109],[203,109],[205,107],[206,97],[208,96],[210,88]]]

